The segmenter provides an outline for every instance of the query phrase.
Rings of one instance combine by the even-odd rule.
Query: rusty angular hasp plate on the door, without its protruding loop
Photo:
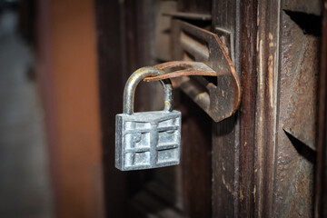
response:
[[[234,114],[241,101],[241,85],[226,45],[218,35],[172,19],[173,60],[203,62],[217,74],[217,84],[203,76],[178,78],[180,88],[215,122]]]

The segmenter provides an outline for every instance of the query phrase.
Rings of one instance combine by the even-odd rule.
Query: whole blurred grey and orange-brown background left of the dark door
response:
[[[92,0],[0,0],[0,217],[103,215],[95,50]]]

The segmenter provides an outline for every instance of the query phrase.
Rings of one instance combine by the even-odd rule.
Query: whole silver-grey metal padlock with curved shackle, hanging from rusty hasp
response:
[[[134,113],[136,85],[145,77],[163,74],[144,67],[132,74],[124,87],[123,114],[116,114],[115,167],[122,171],[151,169],[180,162],[181,113],[173,110],[173,86],[163,80],[163,111]]]

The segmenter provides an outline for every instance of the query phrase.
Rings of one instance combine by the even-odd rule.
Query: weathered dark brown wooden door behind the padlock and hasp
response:
[[[321,35],[314,6],[278,0],[95,2],[107,217],[313,215]],[[183,114],[181,164],[120,172],[114,168],[114,118],[122,112],[124,83],[139,67],[171,60],[169,17],[162,13],[173,11],[218,36],[230,35],[242,104],[215,123],[176,90],[175,108]],[[160,88],[141,84],[137,110],[160,110]]]

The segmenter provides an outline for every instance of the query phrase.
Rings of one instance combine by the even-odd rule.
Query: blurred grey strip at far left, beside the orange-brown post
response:
[[[1,217],[54,217],[30,6],[0,2]]]

